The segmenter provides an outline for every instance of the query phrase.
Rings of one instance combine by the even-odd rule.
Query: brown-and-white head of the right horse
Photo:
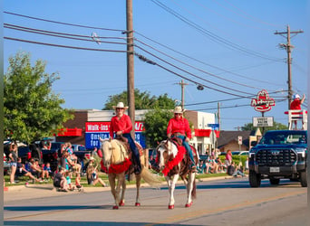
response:
[[[178,149],[170,140],[163,140],[160,145],[156,148],[157,151],[157,164],[162,170],[170,158],[173,158],[178,153]]]

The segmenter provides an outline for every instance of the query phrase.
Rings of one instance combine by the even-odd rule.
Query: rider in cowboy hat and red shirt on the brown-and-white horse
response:
[[[196,171],[196,165],[194,161],[194,156],[189,146],[189,139],[191,138],[191,130],[189,128],[189,121],[183,118],[183,110],[181,107],[174,108],[174,118],[170,118],[167,127],[167,136],[179,137],[182,139],[182,145],[185,146],[189,159],[191,161],[190,168]]]

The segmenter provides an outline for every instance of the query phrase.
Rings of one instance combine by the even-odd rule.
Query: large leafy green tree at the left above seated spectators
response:
[[[52,92],[59,77],[47,74],[44,61],[31,65],[30,54],[18,52],[9,58],[4,77],[4,135],[28,143],[51,137],[63,122],[73,118],[61,108],[64,99]]]

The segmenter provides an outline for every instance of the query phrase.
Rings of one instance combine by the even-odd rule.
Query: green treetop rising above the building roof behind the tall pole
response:
[[[112,106],[116,106],[118,102],[123,102],[124,105],[128,106],[127,91],[121,92],[121,94],[109,96],[109,99],[104,105],[102,110],[111,110]],[[134,101],[135,108],[138,109],[172,109],[174,108],[175,102],[173,99],[168,97],[168,94],[160,95],[160,97],[150,97],[150,92],[140,92],[139,89],[134,90]]]

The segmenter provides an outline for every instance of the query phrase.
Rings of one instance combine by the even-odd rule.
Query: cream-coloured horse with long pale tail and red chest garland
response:
[[[105,168],[108,174],[109,183],[111,186],[111,193],[114,197],[115,204],[112,209],[117,210],[119,206],[125,204],[125,190],[126,190],[126,174],[133,173],[133,167],[131,167],[131,154],[128,152],[129,146],[118,139],[102,139],[102,167]],[[138,143],[136,143],[139,145]],[[142,147],[139,145],[139,149]],[[140,206],[140,180],[141,178],[151,186],[158,186],[161,184],[160,178],[155,174],[152,174],[145,165],[144,155],[141,155],[140,151],[140,163],[141,173],[135,174],[136,177],[136,202],[135,206]],[[120,195],[121,193],[121,195]]]

